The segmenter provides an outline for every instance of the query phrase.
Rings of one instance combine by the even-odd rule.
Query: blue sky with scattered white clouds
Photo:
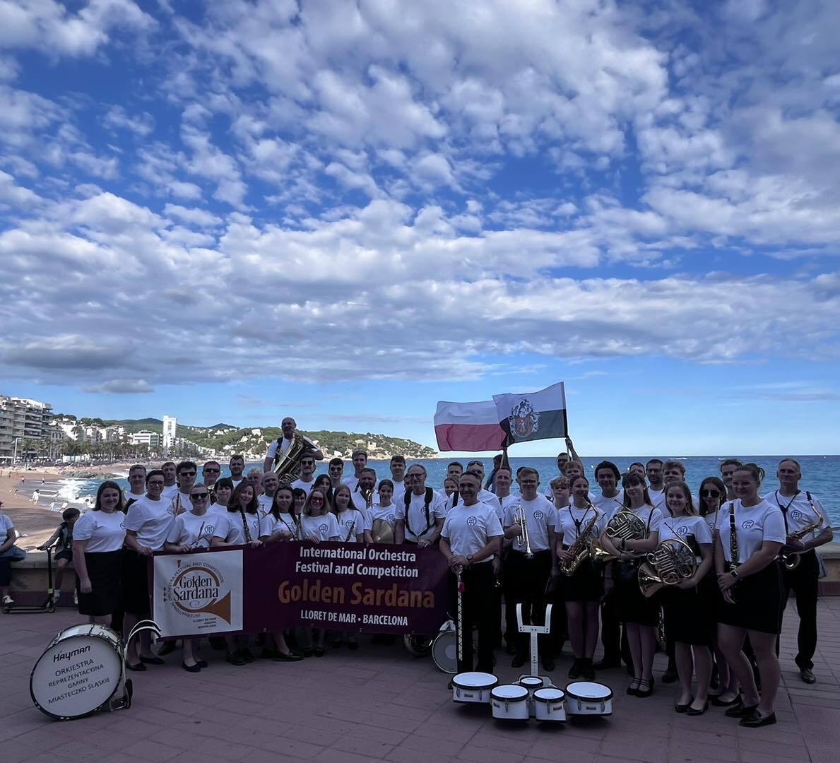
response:
[[[837,453],[840,3],[0,0],[0,394]],[[557,441],[512,455],[551,455]]]

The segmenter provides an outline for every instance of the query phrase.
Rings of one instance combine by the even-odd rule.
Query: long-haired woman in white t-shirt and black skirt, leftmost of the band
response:
[[[123,491],[102,482],[96,503],[73,525],[73,566],[79,576],[79,614],[89,623],[111,625],[123,606]]]

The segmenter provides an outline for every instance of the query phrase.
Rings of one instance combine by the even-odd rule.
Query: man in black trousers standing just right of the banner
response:
[[[470,634],[475,626],[478,629],[478,663],[475,670],[491,673],[498,619],[494,612],[496,597],[493,596],[491,560],[499,553],[503,533],[493,508],[478,500],[480,488],[481,483],[475,474],[468,472],[461,475],[458,489],[462,501],[447,514],[440,534],[440,550],[449,563],[449,570],[454,573],[450,590],[454,588],[455,575],[464,582],[464,621],[461,624],[464,637],[458,671],[473,670],[474,649]],[[452,609],[454,606],[450,605]]]

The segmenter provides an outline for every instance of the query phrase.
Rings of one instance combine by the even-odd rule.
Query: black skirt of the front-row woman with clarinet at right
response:
[[[718,623],[760,633],[780,634],[782,573],[778,562],[771,562],[754,575],[739,578],[730,591],[735,603],[729,604],[720,598]]]

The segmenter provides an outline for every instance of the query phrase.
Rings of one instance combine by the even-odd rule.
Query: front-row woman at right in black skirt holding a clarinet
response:
[[[732,475],[735,500],[717,513],[715,570],[723,603],[717,641],[738,677],[742,695],[726,711],[749,728],[776,722],[774,702],[780,667],[776,638],[781,630],[782,579],[777,558],[785,544],[785,519],[776,503],[759,495],[764,470],[744,464]],[[743,654],[749,636],[761,676],[761,695]]]

